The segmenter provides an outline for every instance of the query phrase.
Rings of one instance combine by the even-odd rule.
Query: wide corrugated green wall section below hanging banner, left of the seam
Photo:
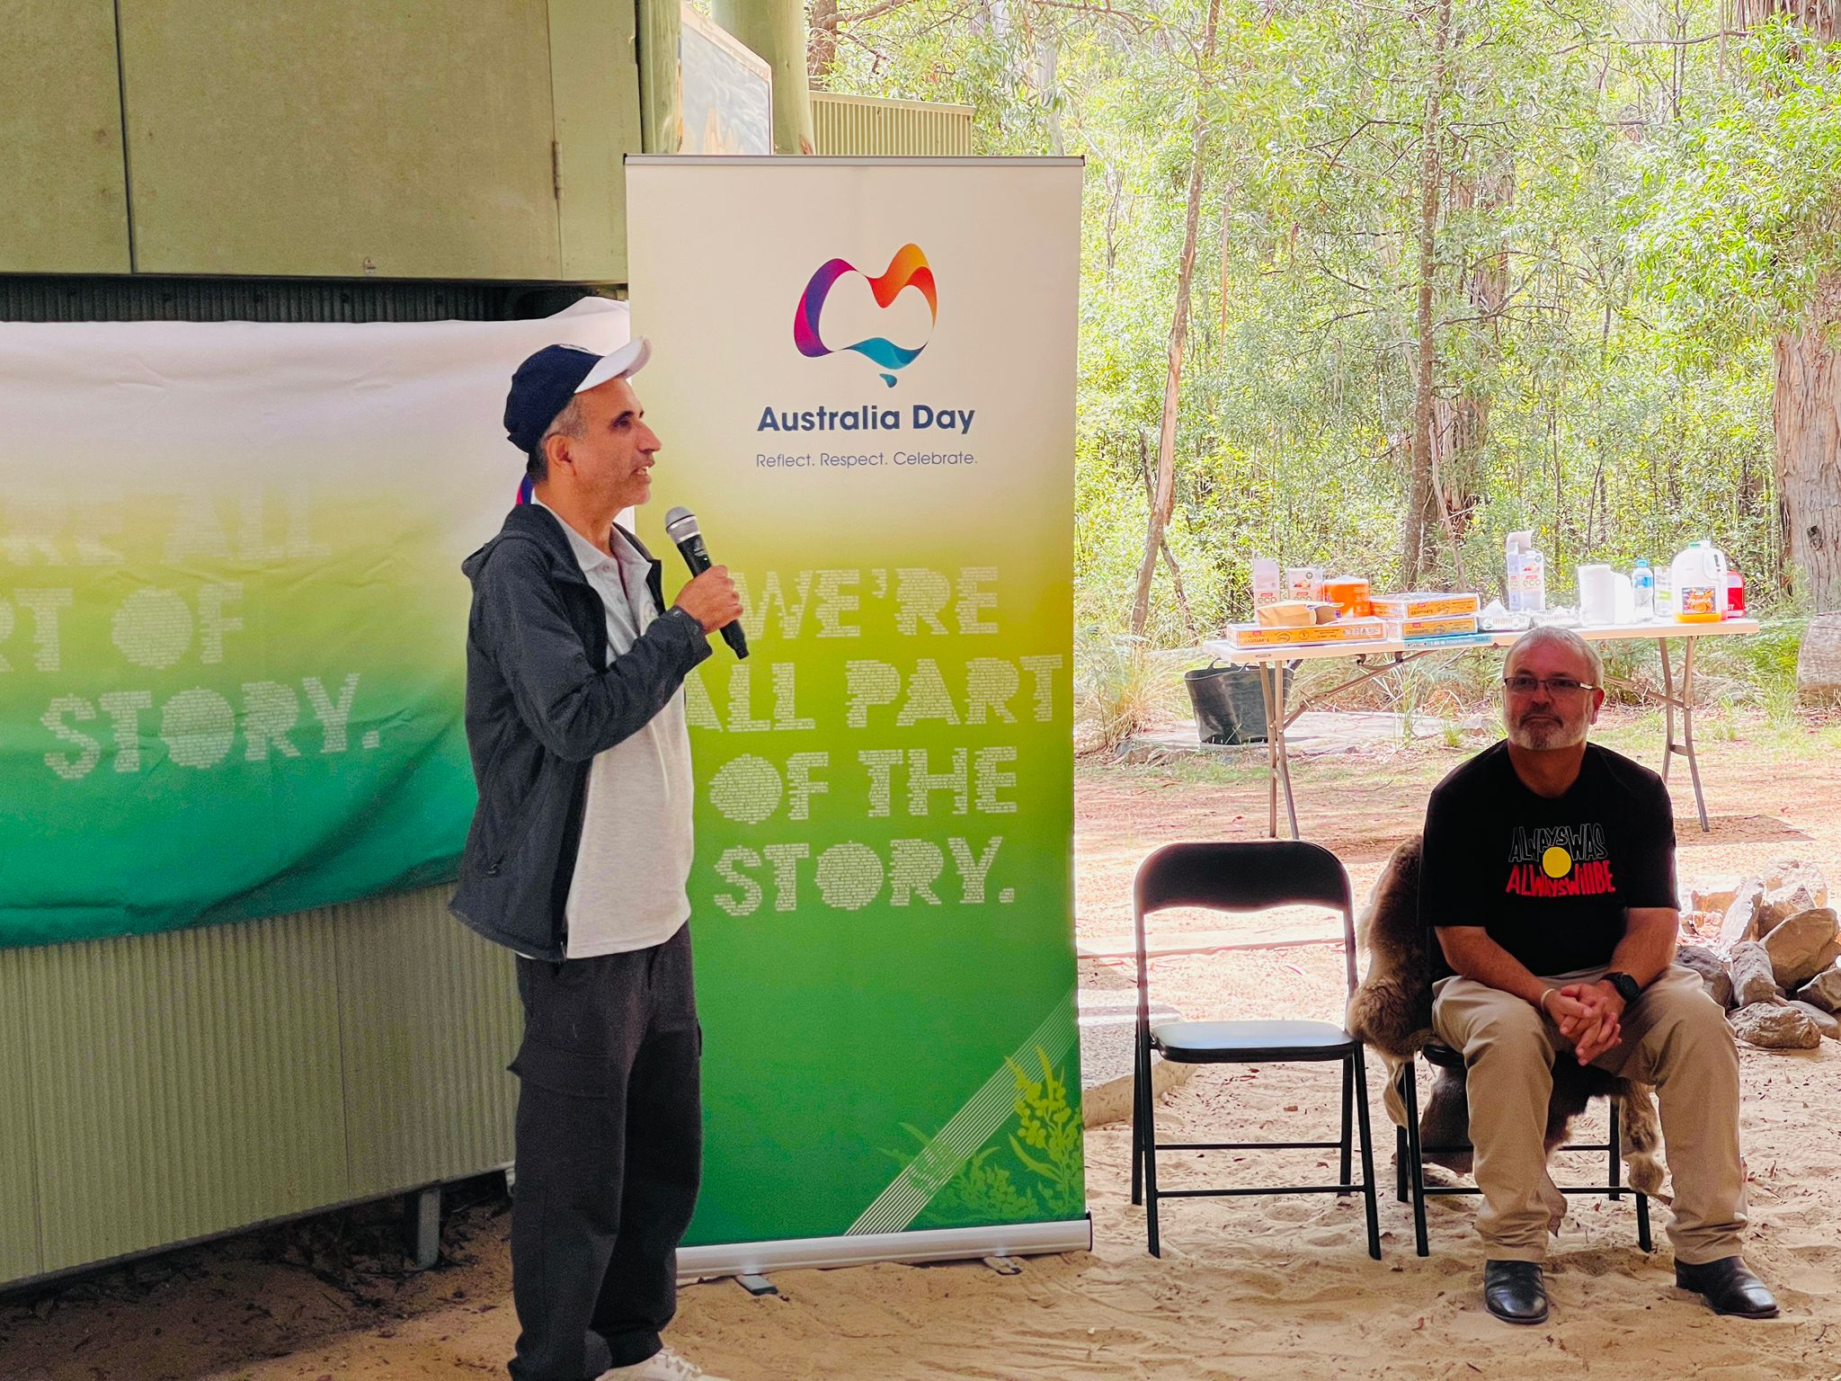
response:
[[[17,954],[44,1271],[350,1197],[324,917]]]

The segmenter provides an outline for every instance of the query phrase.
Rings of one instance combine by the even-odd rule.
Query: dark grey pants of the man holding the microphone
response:
[[[690,928],[650,950],[517,961],[512,1381],[643,1363],[677,1307],[703,1160]]]

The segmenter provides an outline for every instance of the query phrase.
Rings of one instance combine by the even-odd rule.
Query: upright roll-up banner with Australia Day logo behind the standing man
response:
[[[751,656],[689,683],[685,1272],[1086,1247],[1077,160],[630,158],[635,379]]]

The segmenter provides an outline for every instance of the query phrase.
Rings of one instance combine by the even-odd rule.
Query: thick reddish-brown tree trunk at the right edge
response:
[[[1777,516],[1793,580],[1817,609],[1841,609],[1841,274],[1815,287],[1810,315],[1777,337],[1771,422],[1777,433]]]

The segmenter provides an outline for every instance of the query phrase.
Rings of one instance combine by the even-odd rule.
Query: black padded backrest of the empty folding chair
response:
[[[1165,843],[1138,865],[1132,928],[1138,941],[1138,994],[1147,998],[1145,917],[1169,906],[1263,911],[1272,906],[1324,906],[1342,913],[1342,959],[1355,996],[1355,904],[1342,860],[1305,840],[1246,843]]]

